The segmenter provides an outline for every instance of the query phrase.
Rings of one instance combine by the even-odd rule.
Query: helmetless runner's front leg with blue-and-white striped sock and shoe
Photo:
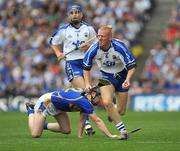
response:
[[[101,97],[102,97],[103,105],[108,115],[111,117],[113,123],[115,124],[116,128],[119,130],[121,138],[127,139],[127,131],[125,125],[120,120],[119,113],[112,102],[114,91],[115,89],[113,88],[113,86],[101,87]]]

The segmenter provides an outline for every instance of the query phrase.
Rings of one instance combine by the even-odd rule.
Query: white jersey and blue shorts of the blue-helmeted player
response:
[[[96,36],[94,28],[85,22],[81,22],[79,28],[71,23],[60,26],[52,35],[50,44],[63,44],[64,54],[76,49],[66,56],[66,74],[70,82],[74,77],[83,76],[82,62],[85,53],[79,46],[94,36]]]

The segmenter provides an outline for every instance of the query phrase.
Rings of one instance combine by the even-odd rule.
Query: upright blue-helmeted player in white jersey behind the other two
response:
[[[94,28],[82,21],[83,13],[80,5],[72,5],[68,8],[68,24],[60,26],[50,40],[51,47],[58,60],[65,59],[65,70],[68,80],[73,87],[84,88],[83,58],[85,51],[95,41],[96,32]],[[93,38],[94,37],[94,38]],[[93,40],[92,40],[93,39]],[[89,40],[89,41],[88,41]],[[63,50],[59,47],[63,45]],[[72,53],[69,53],[72,51]],[[66,55],[69,53],[68,55]],[[86,120],[85,133],[94,131]],[[89,135],[89,134],[88,134]]]

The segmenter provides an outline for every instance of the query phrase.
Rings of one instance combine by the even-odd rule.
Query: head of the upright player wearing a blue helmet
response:
[[[68,8],[68,17],[70,22],[74,25],[78,25],[83,17],[82,7],[79,4],[72,5]]]

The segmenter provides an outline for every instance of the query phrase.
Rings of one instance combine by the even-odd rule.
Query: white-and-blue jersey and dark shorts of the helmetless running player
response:
[[[126,79],[128,70],[136,67],[136,60],[123,42],[112,39],[108,51],[100,49],[98,42],[93,44],[85,54],[84,70],[91,69],[93,60],[98,64],[103,79],[109,80],[116,91],[128,91],[122,88],[122,83]]]

